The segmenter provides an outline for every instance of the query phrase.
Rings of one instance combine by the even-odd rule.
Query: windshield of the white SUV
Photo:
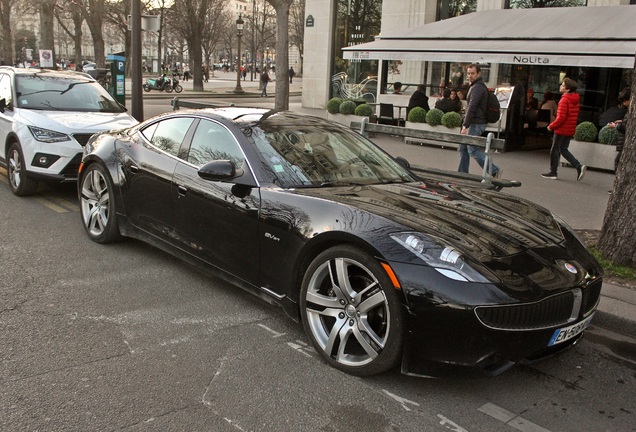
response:
[[[124,109],[97,82],[82,76],[16,76],[18,108],[119,113]]]

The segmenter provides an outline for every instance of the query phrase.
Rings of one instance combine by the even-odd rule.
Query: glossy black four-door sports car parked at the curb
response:
[[[179,111],[93,136],[91,239],[135,237],[282,306],[356,375],[491,374],[575,343],[602,269],[548,210],[422,177],[292,112]]]

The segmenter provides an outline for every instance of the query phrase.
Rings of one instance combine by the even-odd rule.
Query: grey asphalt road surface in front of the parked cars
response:
[[[91,242],[70,185],[20,199],[3,175],[0,209],[2,431],[636,430],[636,368],[598,339],[494,378],[352,377],[281,310]]]

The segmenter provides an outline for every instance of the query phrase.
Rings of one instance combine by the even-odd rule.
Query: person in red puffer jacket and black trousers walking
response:
[[[559,106],[557,108],[557,116],[552,123],[548,125],[548,130],[554,132],[552,140],[552,148],[550,149],[550,172],[541,174],[541,177],[551,180],[557,179],[557,167],[559,166],[559,157],[563,156],[573,167],[576,168],[576,179],[581,180],[585,175],[587,167],[581,165],[568,150],[570,140],[574,136],[576,130],[576,122],[579,118],[580,97],[576,92],[576,81],[571,78],[565,78],[559,87],[559,91],[563,93]]]

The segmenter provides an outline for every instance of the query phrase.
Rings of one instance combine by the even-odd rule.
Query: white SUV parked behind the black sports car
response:
[[[87,74],[0,67],[0,165],[16,195],[38,180],[76,181],[91,135],[136,123]]]

